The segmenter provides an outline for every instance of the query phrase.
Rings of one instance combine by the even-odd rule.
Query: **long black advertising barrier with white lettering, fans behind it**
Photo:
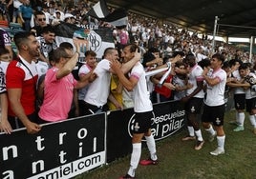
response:
[[[155,104],[153,112],[157,141],[184,126],[178,101]],[[71,178],[110,163],[131,153],[133,117],[133,109],[114,110],[46,124],[33,135],[26,129],[1,133],[0,178]]]

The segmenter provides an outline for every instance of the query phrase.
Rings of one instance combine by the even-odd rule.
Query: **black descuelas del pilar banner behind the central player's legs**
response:
[[[154,104],[153,113],[151,131],[156,141],[173,135],[184,126],[185,110],[179,101]],[[134,109],[115,110],[108,114],[107,162],[131,153],[133,117]]]

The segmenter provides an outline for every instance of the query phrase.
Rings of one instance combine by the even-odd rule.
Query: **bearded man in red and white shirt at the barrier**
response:
[[[41,127],[36,124],[35,90],[38,74],[33,59],[39,56],[39,43],[34,34],[28,31],[16,33],[14,42],[19,55],[11,61],[6,74],[11,107],[9,122],[12,129],[25,126],[29,133],[36,133]]]

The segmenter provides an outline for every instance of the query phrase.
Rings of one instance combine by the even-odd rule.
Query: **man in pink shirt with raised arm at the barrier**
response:
[[[38,112],[40,123],[67,119],[74,90],[88,85],[88,79],[82,78],[77,82],[71,73],[77,60],[78,52],[73,53],[65,48],[53,51],[53,68],[46,72],[43,104]]]

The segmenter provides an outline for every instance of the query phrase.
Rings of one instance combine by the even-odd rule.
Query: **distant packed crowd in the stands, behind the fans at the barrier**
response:
[[[94,6],[88,0],[80,1],[57,1],[57,0],[2,0],[0,2],[0,20],[9,23],[20,23],[24,30],[31,30],[40,22],[35,20],[35,14],[42,11],[48,25],[57,25],[60,22],[68,22],[76,25],[109,26],[107,23],[98,21],[86,13]],[[110,11],[113,9],[110,8]],[[198,31],[189,31],[171,23],[164,23],[157,18],[141,16],[128,12],[129,24],[125,29],[113,28],[114,37],[120,45],[128,42],[136,42],[144,50],[158,48],[160,55],[172,53],[174,50],[183,50],[197,55],[199,61],[211,55],[212,44],[207,34],[199,37]],[[4,24],[4,23],[3,23]],[[125,36],[125,33],[128,36]],[[40,34],[37,34],[38,36]],[[232,45],[217,42],[214,51],[224,52],[226,59],[235,57],[239,50]],[[248,52],[239,50],[242,61],[249,61]],[[254,61],[254,57],[252,59]]]

